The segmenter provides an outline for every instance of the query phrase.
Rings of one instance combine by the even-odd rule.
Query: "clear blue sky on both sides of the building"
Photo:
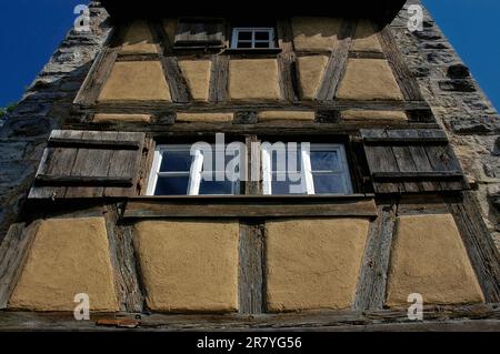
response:
[[[68,29],[84,0],[2,1],[0,107],[19,100]],[[423,0],[459,54],[500,108],[500,0]]]

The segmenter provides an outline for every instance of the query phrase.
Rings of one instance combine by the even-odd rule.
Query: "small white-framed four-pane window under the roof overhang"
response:
[[[233,49],[273,49],[274,29],[271,27],[236,27],[232,29]]]

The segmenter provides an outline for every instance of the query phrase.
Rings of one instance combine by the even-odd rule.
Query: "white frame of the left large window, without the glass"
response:
[[[216,144],[210,144],[212,149],[216,149]],[[220,150],[220,148],[217,148]],[[156,195],[154,191],[157,190],[158,178],[160,175],[163,176],[180,176],[186,175],[186,172],[160,172],[161,162],[163,160],[163,152],[176,152],[176,151],[190,151],[190,144],[161,144],[157,145],[154,149],[154,158],[151,166],[151,173],[149,175],[147,195]],[[224,146],[224,151],[237,151],[238,149],[231,149],[228,145]],[[193,160],[191,162],[191,169],[189,173],[189,183],[186,195],[199,195],[201,179],[203,173],[203,153],[201,149],[197,150]],[[214,163],[214,161],[212,161]],[[241,163],[241,161],[240,161]],[[216,166],[217,168],[217,166]],[[226,165],[224,165],[226,168]],[[240,166],[241,169],[241,166]],[[220,171],[211,171],[211,172],[220,172]],[[240,181],[241,182],[241,181]],[[239,193],[238,193],[239,194]],[[219,195],[219,194],[208,194],[208,195]],[[233,195],[233,194],[223,194],[223,195]]]

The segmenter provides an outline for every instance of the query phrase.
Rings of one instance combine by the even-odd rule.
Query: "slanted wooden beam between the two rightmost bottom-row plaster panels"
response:
[[[396,225],[396,205],[380,205],[379,218],[370,225],[363,263],[359,275],[353,310],[382,310],[392,236]]]

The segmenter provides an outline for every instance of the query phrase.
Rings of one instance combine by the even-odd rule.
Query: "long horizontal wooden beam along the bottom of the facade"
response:
[[[111,321],[110,321],[111,320]],[[121,323],[126,324],[120,326]],[[333,311],[260,315],[91,314],[91,321],[74,321],[72,313],[0,312],[0,331],[500,331],[498,304],[431,306],[423,321],[410,321],[403,311]],[[111,323],[112,326],[100,325]]]

